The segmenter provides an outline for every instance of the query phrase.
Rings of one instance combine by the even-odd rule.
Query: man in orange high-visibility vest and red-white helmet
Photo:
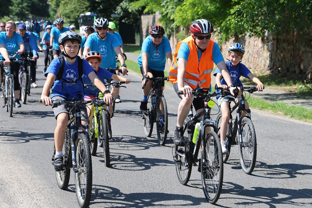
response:
[[[197,19],[191,24],[190,31],[189,37],[178,42],[169,72],[169,80],[175,92],[183,92],[183,95],[178,95],[182,100],[178,107],[177,126],[173,136],[173,142],[181,146],[184,146],[185,142],[182,134],[183,121],[190,111],[191,104],[193,103],[196,113],[202,111],[203,98],[194,98],[192,90],[200,87],[211,89],[213,63],[221,70],[232,95],[235,89],[218,44],[210,40],[212,24],[205,19]]]

